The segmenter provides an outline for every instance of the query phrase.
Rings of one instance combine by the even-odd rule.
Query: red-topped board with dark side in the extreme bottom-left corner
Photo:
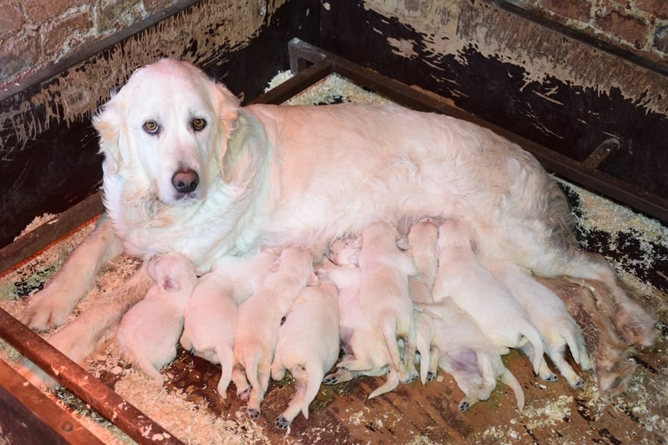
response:
[[[0,428],[12,444],[102,445],[70,413],[1,359]]]

